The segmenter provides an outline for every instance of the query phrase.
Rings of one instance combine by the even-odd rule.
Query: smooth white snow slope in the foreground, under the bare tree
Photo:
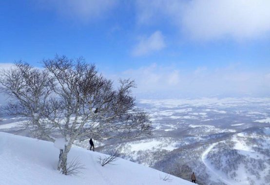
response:
[[[72,148],[69,160],[78,157],[86,169],[65,176],[56,169],[59,151],[53,143],[0,132],[0,185],[193,185],[161,171],[119,159],[117,165],[100,166],[104,154]]]

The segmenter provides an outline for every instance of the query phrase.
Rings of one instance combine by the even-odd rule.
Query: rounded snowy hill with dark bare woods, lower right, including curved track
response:
[[[209,171],[210,179],[226,185],[269,185],[269,128],[261,130],[266,135],[260,131],[240,132],[229,140],[212,143],[206,148],[201,159]],[[218,147],[219,144],[222,145]],[[224,147],[231,152],[223,153],[221,148]]]

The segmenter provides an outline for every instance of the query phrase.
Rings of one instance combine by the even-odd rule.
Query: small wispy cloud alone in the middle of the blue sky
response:
[[[139,39],[139,43],[132,51],[133,56],[143,56],[165,48],[164,36],[160,31],[155,31],[149,37]]]

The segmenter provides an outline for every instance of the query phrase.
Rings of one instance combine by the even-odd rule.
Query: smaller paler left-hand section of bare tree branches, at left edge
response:
[[[0,71],[0,92],[7,94],[10,100],[1,108],[2,114],[28,118],[22,128],[30,128],[31,133],[40,139],[54,141],[49,136],[51,127],[41,122],[42,112],[53,91],[52,84],[53,78],[48,72],[22,61],[15,63],[10,70]]]

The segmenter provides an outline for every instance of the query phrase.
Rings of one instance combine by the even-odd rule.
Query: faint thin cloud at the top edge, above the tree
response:
[[[54,9],[60,16],[88,22],[106,15],[118,0],[41,0],[41,6]]]

